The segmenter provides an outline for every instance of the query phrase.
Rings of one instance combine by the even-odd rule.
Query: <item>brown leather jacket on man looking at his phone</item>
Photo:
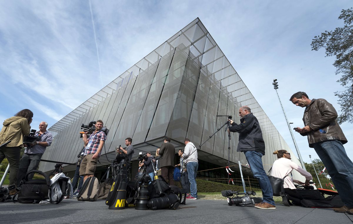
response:
[[[313,148],[313,143],[327,140],[340,140],[342,144],[348,142],[336,118],[337,112],[332,104],[325,99],[311,100],[305,108],[303,121],[304,125],[309,125],[312,130],[301,133],[301,135],[308,137],[310,148]]]

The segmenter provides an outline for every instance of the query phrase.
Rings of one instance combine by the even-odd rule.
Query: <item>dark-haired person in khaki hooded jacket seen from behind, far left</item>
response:
[[[23,146],[23,136],[29,135],[31,131],[33,113],[24,109],[4,121],[4,127],[0,132],[0,145],[11,141],[0,150],[0,162],[6,159],[10,164],[9,185],[17,184],[17,174],[20,165],[20,150]],[[16,191],[15,191],[16,192]],[[10,192],[10,194],[15,193]]]

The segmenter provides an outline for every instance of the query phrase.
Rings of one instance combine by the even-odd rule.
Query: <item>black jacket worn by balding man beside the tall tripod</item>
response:
[[[256,151],[265,155],[265,142],[262,138],[260,124],[252,113],[241,118],[240,124],[233,122],[229,130],[239,133],[237,152]]]

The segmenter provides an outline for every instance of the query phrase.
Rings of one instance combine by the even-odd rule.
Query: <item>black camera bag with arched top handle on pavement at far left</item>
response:
[[[28,180],[28,175],[31,173],[38,173],[42,175],[44,179]],[[15,197],[18,195],[17,201],[27,204],[36,204],[42,200],[48,199],[48,193],[50,192],[51,194],[52,191],[48,175],[37,170],[28,171],[16,190],[18,192],[13,196],[12,200],[14,201]]]

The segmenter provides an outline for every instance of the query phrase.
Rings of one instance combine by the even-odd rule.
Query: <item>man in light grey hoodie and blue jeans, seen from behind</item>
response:
[[[190,139],[185,139],[185,148],[183,153],[184,162],[186,163],[186,171],[190,182],[190,196],[186,199],[197,199],[197,184],[196,173],[198,168],[197,149],[195,145],[190,142]]]

